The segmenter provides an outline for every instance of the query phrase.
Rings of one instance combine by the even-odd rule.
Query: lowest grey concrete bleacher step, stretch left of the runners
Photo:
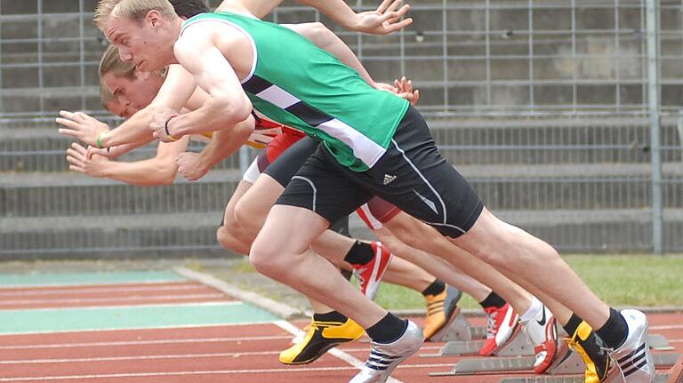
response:
[[[222,254],[216,229],[222,211],[0,219],[3,259],[122,255]]]

